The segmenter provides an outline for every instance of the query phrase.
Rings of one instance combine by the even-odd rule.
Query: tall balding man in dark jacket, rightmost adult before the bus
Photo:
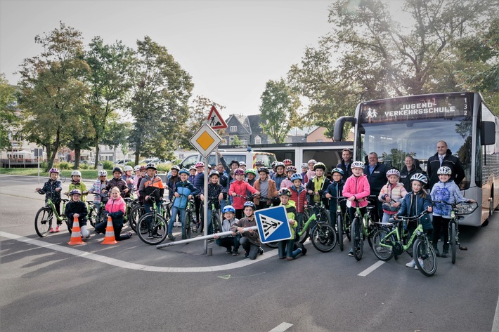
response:
[[[458,157],[452,155],[448,149],[447,143],[443,140],[436,142],[436,154],[428,158],[427,173],[429,178],[429,189],[432,190],[433,185],[439,182],[439,175],[436,171],[441,166],[451,168],[451,180],[454,180],[456,185],[459,185],[462,179],[465,178],[465,171],[462,169],[461,161]]]

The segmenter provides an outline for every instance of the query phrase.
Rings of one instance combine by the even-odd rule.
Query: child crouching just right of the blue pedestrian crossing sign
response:
[[[299,248],[293,251],[294,246],[294,228],[298,227],[298,222],[295,220],[295,215],[297,213],[294,201],[290,200],[291,191],[287,188],[280,190],[279,199],[280,205],[285,206],[287,214],[287,222],[291,225],[291,239],[279,241],[278,243],[278,253],[279,259],[286,258],[287,260],[294,260],[300,253],[302,255],[306,254],[306,248],[303,244],[299,243]]]

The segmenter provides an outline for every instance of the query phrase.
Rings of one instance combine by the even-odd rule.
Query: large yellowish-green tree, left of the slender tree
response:
[[[46,148],[47,170],[59,147],[65,145],[72,121],[79,119],[88,88],[82,80],[89,70],[83,59],[82,33],[63,22],[50,34],[37,35],[44,51],[27,58],[20,69],[20,98],[24,133],[28,140]]]

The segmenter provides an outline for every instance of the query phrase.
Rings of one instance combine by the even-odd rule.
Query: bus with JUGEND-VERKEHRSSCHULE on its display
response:
[[[436,154],[436,142],[447,142],[465,171],[461,193],[478,207],[460,220],[481,226],[499,204],[499,119],[480,93],[432,93],[371,100],[357,105],[355,117],[340,117],[334,138],[342,140],[344,125],[354,129],[354,160],[376,152],[389,168],[404,166],[406,155],[420,162]],[[408,190],[409,191],[409,190]]]

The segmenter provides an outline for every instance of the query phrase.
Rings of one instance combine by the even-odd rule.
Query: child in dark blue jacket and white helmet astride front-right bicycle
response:
[[[425,210],[432,212],[432,197],[430,197],[424,189],[427,182],[428,178],[422,173],[415,173],[410,177],[410,185],[413,188],[413,191],[406,194],[406,197],[402,199],[402,205],[396,215],[394,215],[395,219],[397,215],[414,216]],[[423,215],[421,223],[423,230],[429,235],[433,230],[432,222],[429,220],[429,216]],[[404,228],[406,228],[409,232],[409,237],[414,232],[416,227],[417,221],[404,225]],[[422,261],[420,261],[420,263],[422,265]],[[417,270],[414,259],[410,260],[410,262],[406,264],[406,267],[414,267]]]

